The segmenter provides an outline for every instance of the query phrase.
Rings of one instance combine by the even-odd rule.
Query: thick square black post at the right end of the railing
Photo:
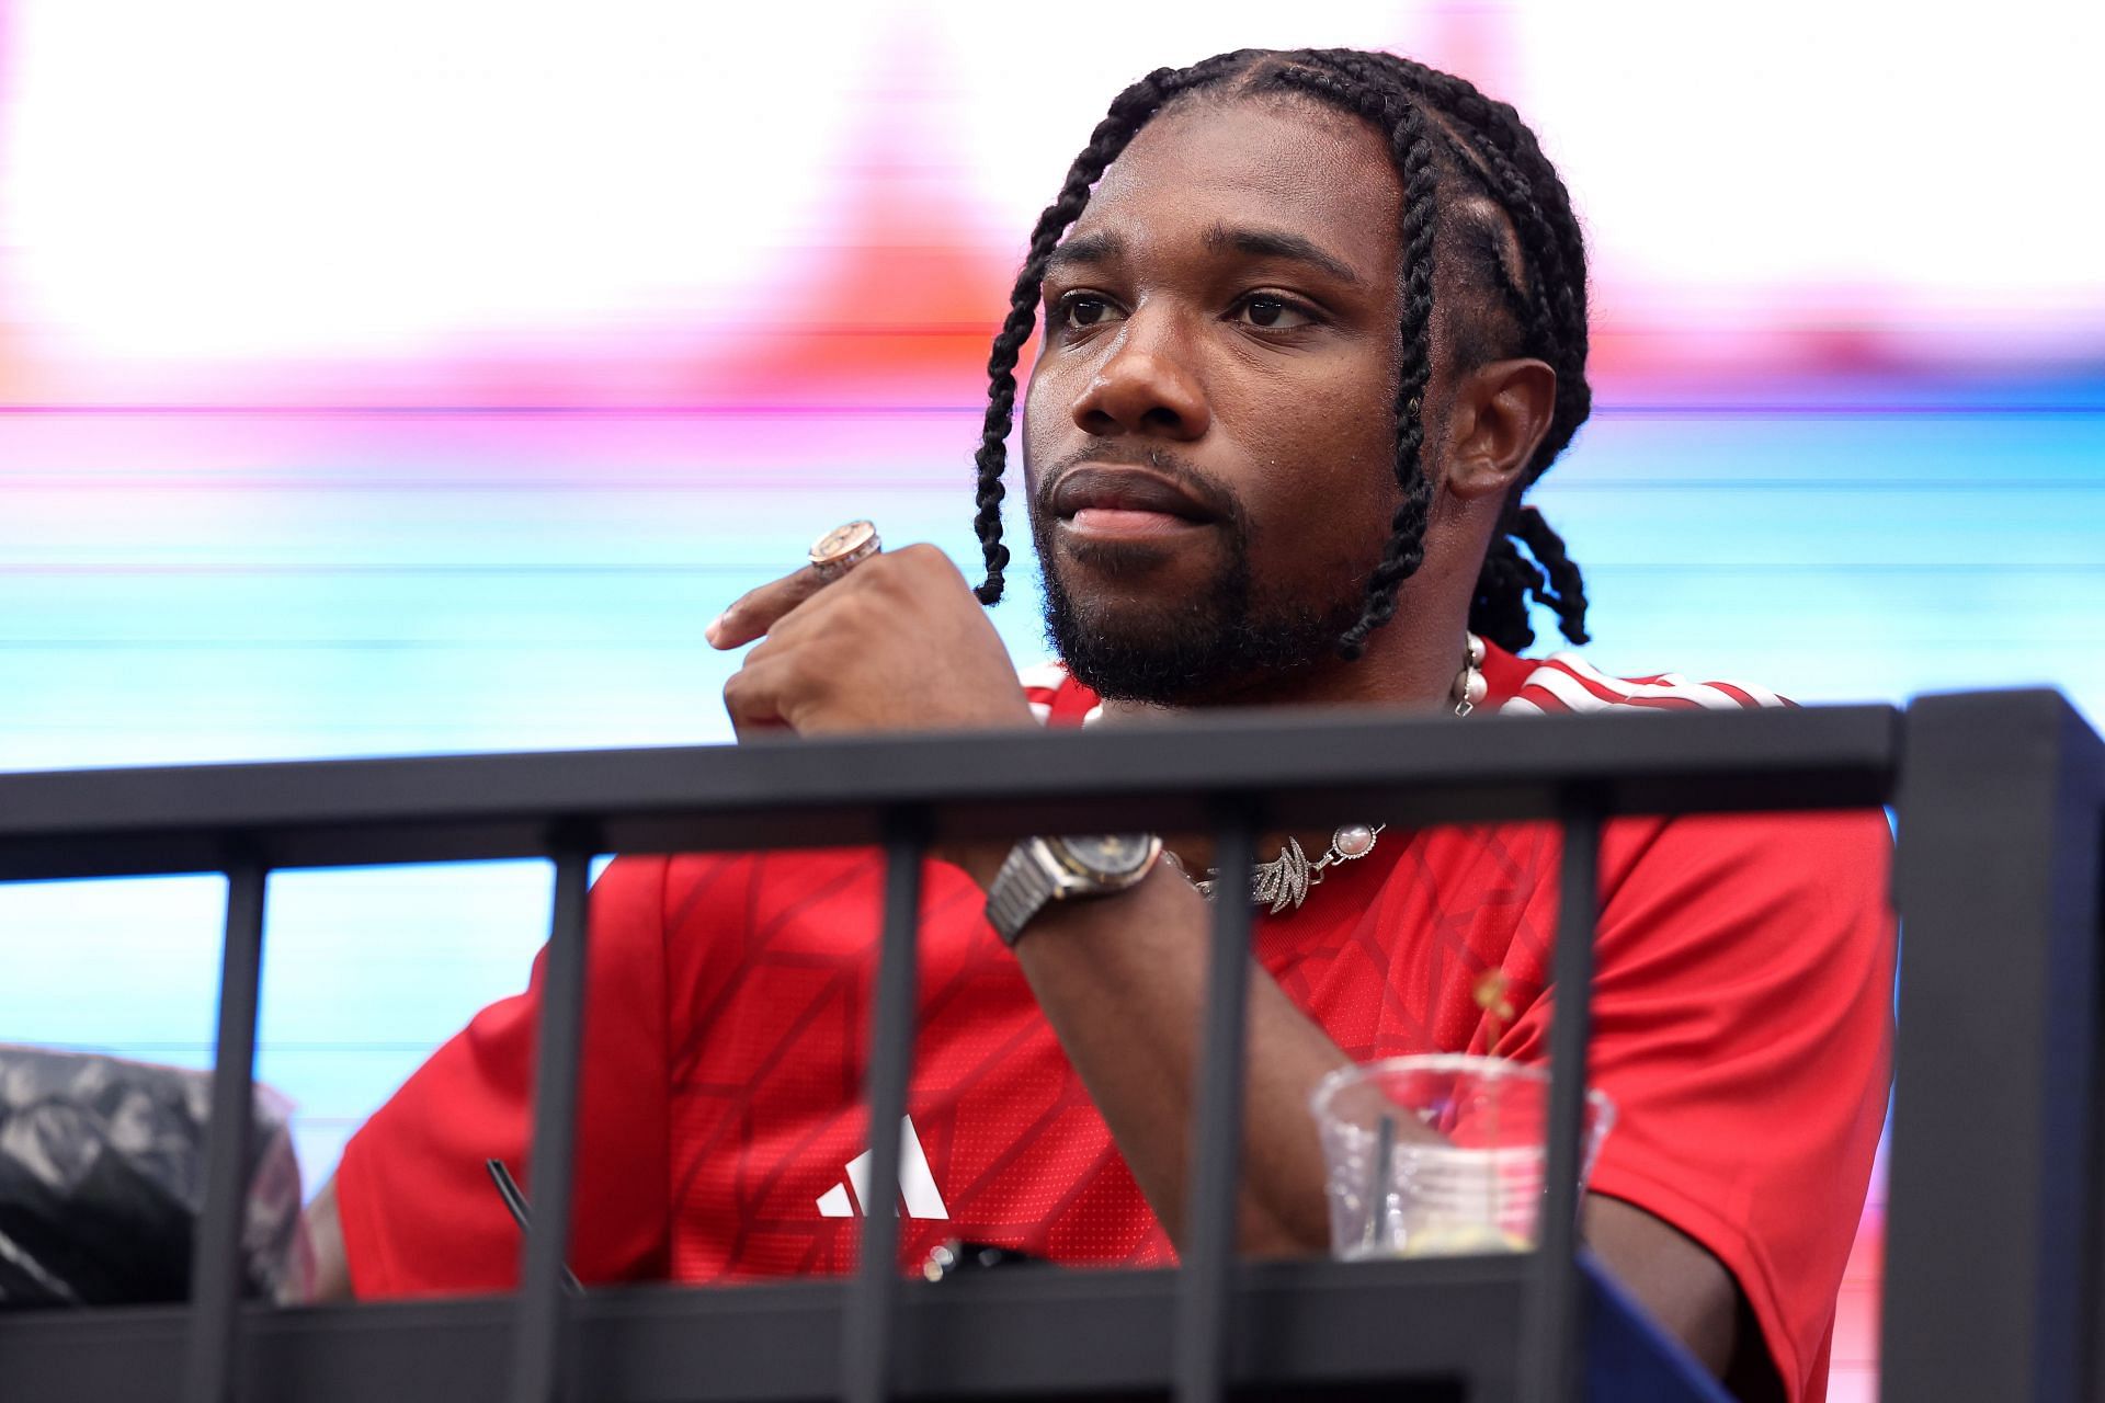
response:
[[[1886,1399],[2088,1395],[2105,747],[2052,692],[1907,711]]]

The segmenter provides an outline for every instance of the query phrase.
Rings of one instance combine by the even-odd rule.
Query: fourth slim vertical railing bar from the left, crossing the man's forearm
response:
[[[1183,1273],[1177,1281],[1175,1397],[1215,1403],[1227,1380],[1236,1199],[1242,1182],[1242,1054],[1250,995],[1250,865],[1257,812],[1221,808],[1215,829],[1212,949],[1198,1085],[1191,1096]]]

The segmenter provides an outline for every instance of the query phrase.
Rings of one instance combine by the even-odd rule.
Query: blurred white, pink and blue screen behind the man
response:
[[[2052,141],[2105,6],[0,0],[0,768],[728,740],[701,629],[819,530],[977,560],[1029,223],[1246,44],[1448,67],[1562,168],[1596,412],[1535,496],[1596,665],[2105,715],[2105,185]],[[274,879],[309,1191],[547,890]],[[221,900],[0,890],[0,1041],[208,1060]]]

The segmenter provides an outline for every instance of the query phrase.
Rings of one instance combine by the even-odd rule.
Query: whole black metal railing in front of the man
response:
[[[0,776],[0,881],[227,875],[206,1205],[181,1308],[0,1317],[0,1397],[808,1399],[1362,1388],[1568,1399],[1589,1277],[1575,1252],[1600,825],[1619,814],[1897,804],[1901,982],[1886,1397],[2084,1399],[2099,1289],[2099,816],[2105,747],[2052,692],[1732,715],[1351,715],[1130,732],[194,766]],[[914,1043],[920,858],[1042,831],[1212,831],[1223,890],[1255,833],[1337,812],[1558,820],[1551,1170],[1539,1252],[1234,1260],[1250,913],[1215,907],[1189,1224],[1175,1273],[895,1270],[863,1218],[853,1281],[562,1292],[598,852],[878,843],[871,1184],[895,1199]],[[240,1146],[267,875],[543,856],[556,865],[530,1182],[509,1298],[301,1310],[236,1300]],[[25,972],[11,974],[15,978]],[[34,974],[27,974],[34,978]],[[956,1289],[951,1289],[956,1287]],[[1612,1292],[1608,1292],[1612,1296]],[[1669,1350],[1671,1353],[1671,1350]],[[1671,1365],[1667,1365],[1671,1367]],[[1667,1374],[1661,1374],[1667,1378]],[[581,1380],[589,1380],[583,1386]],[[1993,1386],[1974,1386],[1993,1380]]]

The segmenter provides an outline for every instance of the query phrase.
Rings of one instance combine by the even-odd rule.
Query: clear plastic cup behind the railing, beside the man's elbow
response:
[[[1330,1073],[1309,1106],[1328,1163],[1335,1256],[1535,1247],[1547,1197],[1547,1069],[1463,1054],[1389,1058]],[[1608,1096],[1587,1092],[1581,1188],[1612,1123]]]

